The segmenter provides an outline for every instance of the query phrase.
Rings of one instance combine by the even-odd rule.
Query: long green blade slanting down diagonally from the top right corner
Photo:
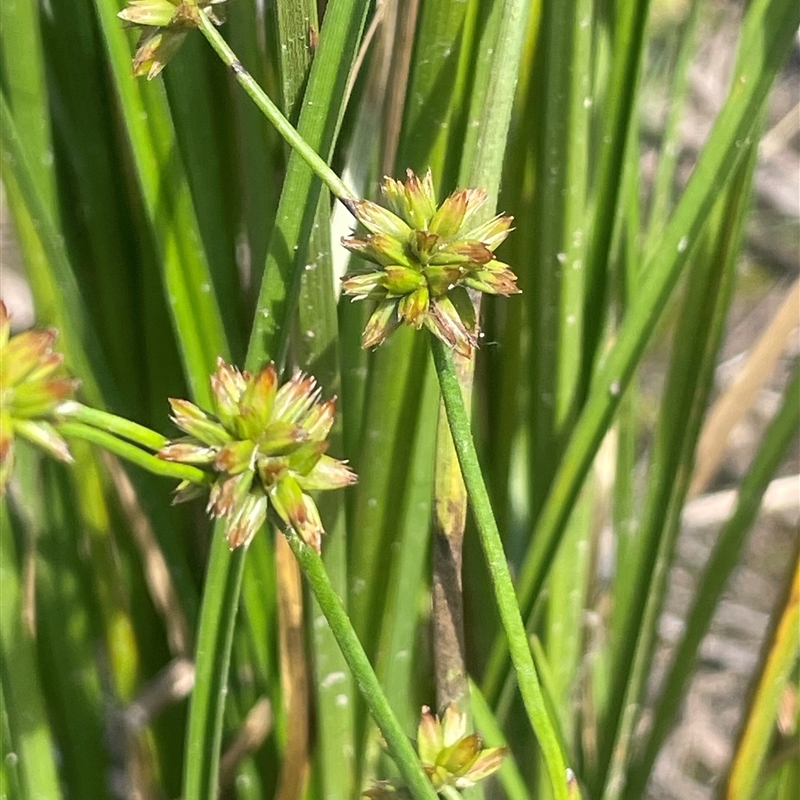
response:
[[[523,608],[541,592],[569,511],[644,349],[651,341],[716,197],[743,157],[742,143],[755,135],[758,116],[778,69],[792,43],[790,31],[800,22],[800,9],[786,0],[757,0],[748,9],[742,30],[733,89],[717,117],[675,213],[664,230],[661,247],[648,262],[644,279],[593,381],[592,391],[576,422],[573,436],[553,481],[532,541],[539,543],[525,558],[518,594]],[[588,295],[587,295],[588,296]],[[502,673],[503,645],[495,644],[493,668],[484,689],[489,698]],[[499,655],[498,655],[499,653]]]

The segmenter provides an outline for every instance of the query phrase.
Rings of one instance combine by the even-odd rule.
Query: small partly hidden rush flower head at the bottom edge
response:
[[[477,733],[467,733],[467,718],[455,706],[448,706],[442,718],[427,706],[417,728],[417,753],[422,768],[437,790],[452,786],[468,789],[500,769],[505,747],[484,748]],[[364,792],[372,800],[399,800],[411,797],[396,780],[379,781]]]

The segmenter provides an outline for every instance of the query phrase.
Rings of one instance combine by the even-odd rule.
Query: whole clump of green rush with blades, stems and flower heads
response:
[[[800,24],[748,4],[679,185],[663,5],[4,9],[0,796],[647,797],[800,427],[795,366],[653,694]],[[796,555],[720,797],[796,785]]]

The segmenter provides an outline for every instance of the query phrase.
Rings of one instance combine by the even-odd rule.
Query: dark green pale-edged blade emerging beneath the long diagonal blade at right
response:
[[[644,518],[638,530],[643,545],[629,552],[635,558],[617,566],[620,603],[612,621],[614,679],[600,737],[601,769],[610,764],[607,800],[616,800],[624,791],[623,772],[637,721],[634,709],[642,701],[650,671],[681,509],[736,276],[755,168],[754,147],[749,155],[739,165],[729,191],[720,197],[710,220],[708,246],[702,243],[697,264],[688,276],[655,433]],[[614,735],[609,736],[612,731]]]

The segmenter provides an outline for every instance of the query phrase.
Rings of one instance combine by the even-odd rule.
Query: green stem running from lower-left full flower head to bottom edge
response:
[[[358,682],[358,688],[361,690],[375,722],[378,723],[392,758],[408,784],[408,788],[419,800],[435,800],[436,792],[423,772],[411,742],[403,732],[383,693],[367,654],[344,610],[342,601],[328,578],[322,559],[313,548],[301,541],[293,530],[289,529],[285,533],[289,546],[300,564],[300,569],[303,570],[319,607],[325,615],[325,619],[328,620],[328,625],[336,637],[339,649]]]

